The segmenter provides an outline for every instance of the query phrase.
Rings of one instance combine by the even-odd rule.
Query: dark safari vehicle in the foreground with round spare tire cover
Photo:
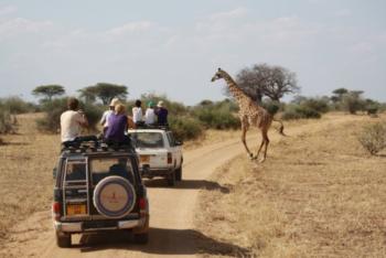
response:
[[[72,234],[131,230],[148,241],[149,201],[135,149],[67,148],[54,169],[52,205],[56,243],[72,245]]]

